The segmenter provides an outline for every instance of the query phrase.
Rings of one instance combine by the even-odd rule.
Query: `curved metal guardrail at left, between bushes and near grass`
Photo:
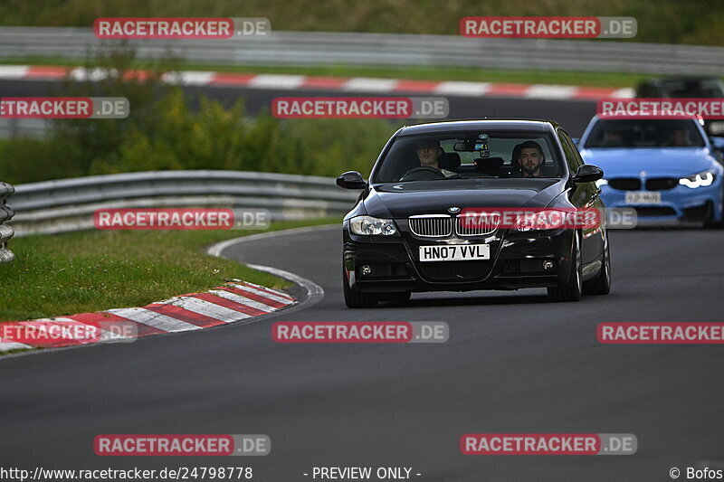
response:
[[[272,221],[347,213],[358,193],[333,178],[243,171],[149,171],[15,186],[16,236],[93,229],[100,208],[266,209]]]

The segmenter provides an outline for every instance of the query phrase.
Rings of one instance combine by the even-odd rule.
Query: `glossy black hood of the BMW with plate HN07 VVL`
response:
[[[456,179],[376,184],[365,197],[370,216],[402,219],[448,214],[452,206],[546,207],[564,189],[562,179]]]

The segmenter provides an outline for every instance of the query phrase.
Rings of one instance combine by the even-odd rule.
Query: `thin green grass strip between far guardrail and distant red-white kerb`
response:
[[[57,57],[16,57],[0,59],[9,65],[84,65],[85,59],[59,59]],[[133,67],[151,66],[148,61],[134,61]],[[286,73],[296,75],[320,75],[332,77],[378,77],[383,79],[411,80],[469,80],[478,82],[538,83],[582,85],[593,87],[633,87],[639,80],[652,77],[647,74],[626,72],[578,72],[578,71],[502,71],[464,67],[386,67],[386,66],[309,66],[279,67],[261,65],[214,65],[185,63],[187,71],[220,71],[243,73]]]

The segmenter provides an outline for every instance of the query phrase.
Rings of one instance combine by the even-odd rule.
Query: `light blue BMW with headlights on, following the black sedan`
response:
[[[595,117],[577,143],[607,208],[634,208],[639,222],[695,221],[719,228],[724,168],[697,119]]]

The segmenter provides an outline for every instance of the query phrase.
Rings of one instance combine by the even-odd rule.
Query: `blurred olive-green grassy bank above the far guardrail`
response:
[[[101,16],[267,17],[272,30],[459,33],[464,16],[633,16],[634,42],[724,44],[720,0],[5,0],[0,24],[90,26]]]

